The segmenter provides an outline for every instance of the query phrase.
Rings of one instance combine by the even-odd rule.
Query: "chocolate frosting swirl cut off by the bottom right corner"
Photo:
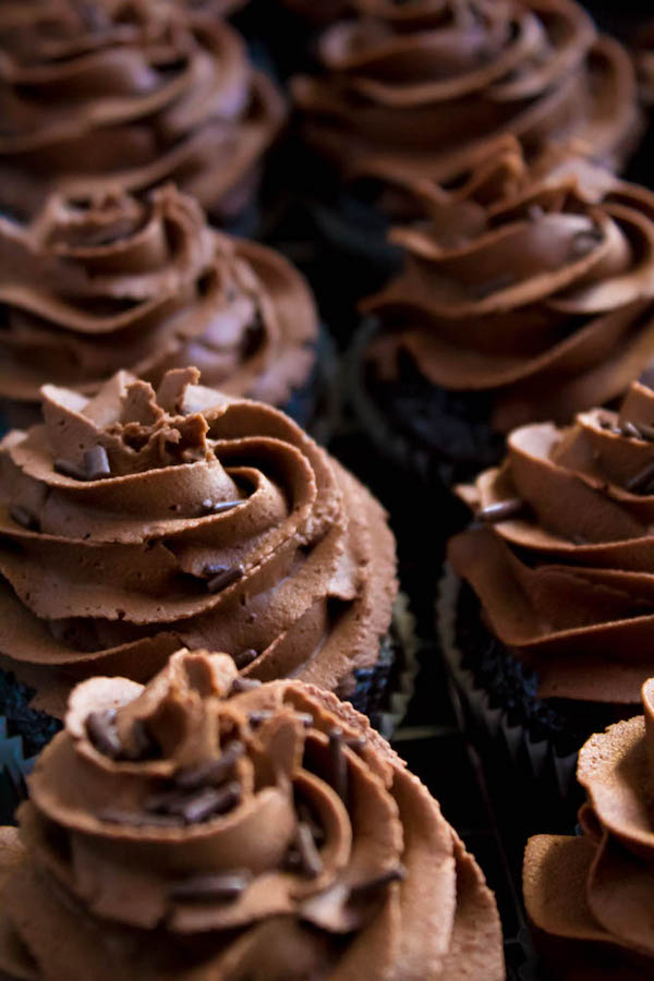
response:
[[[561,981],[642,981],[654,972],[654,679],[642,702],[644,717],[592,736],[579,754],[583,833],[538,835],[526,846],[526,911]]]

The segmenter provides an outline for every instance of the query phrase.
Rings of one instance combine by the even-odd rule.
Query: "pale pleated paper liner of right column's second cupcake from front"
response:
[[[571,809],[577,804],[578,752],[562,754],[552,740],[536,738],[525,725],[510,719],[507,710],[494,705],[488,693],[476,683],[474,674],[463,666],[464,655],[457,641],[460,590],[461,580],[446,565],[436,601],[438,641],[485,761],[497,767],[500,775],[517,771],[530,787],[530,806],[548,807],[558,801],[567,813],[568,806]]]

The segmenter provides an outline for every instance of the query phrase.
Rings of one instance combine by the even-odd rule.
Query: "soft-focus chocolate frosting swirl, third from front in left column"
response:
[[[312,368],[313,298],[278,253],[209,228],[172,185],[147,201],[52,197],[31,226],[0,217],[0,397],[93,393],[121,367],[156,387],[196,365],[206,385],[272,404]]]

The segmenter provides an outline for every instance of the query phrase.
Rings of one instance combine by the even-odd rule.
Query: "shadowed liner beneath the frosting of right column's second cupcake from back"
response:
[[[370,390],[366,351],[378,329],[375,317],[360,325],[347,354],[350,404],[356,424],[378,452],[431,484],[465,481],[501,458],[505,439],[486,422],[484,396],[448,392],[422,378],[411,359],[402,377],[376,399]],[[393,400],[393,395],[399,398]]]

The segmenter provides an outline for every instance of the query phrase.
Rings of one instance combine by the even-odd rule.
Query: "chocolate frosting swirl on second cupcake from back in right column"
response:
[[[654,195],[550,165],[534,177],[509,140],[458,190],[416,185],[404,269],[364,304],[382,376],[407,351],[429,383],[485,393],[499,432],[603,404],[654,356]]]

